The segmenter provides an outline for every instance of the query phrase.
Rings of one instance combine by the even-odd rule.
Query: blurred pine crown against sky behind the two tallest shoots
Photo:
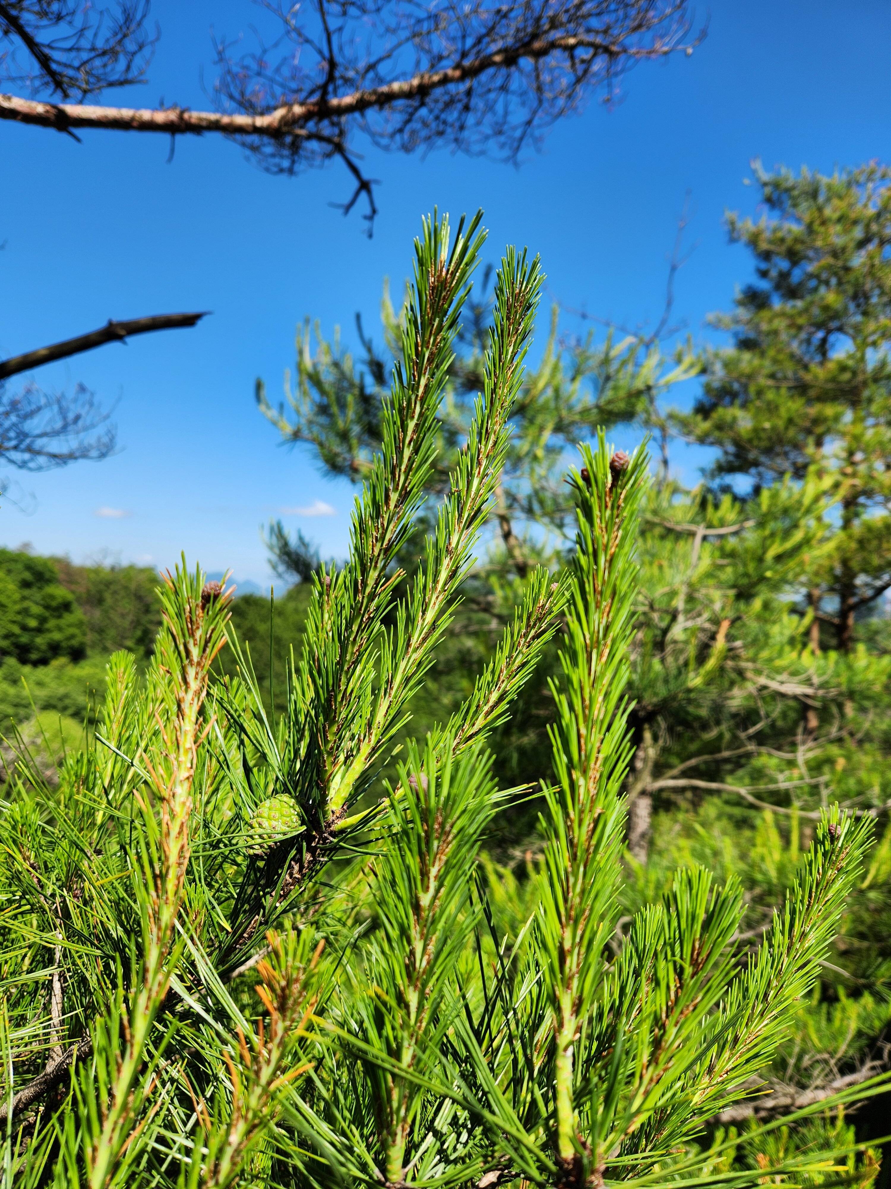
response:
[[[426,484],[428,501],[448,489],[454,459],[474,416],[482,384],[491,304],[488,272],[484,296],[468,302],[457,335],[449,384],[437,410],[437,463]],[[326,339],[309,321],[297,328],[293,379],[285,375],[285,401],[270,400],[257,382],[257,403],[289,443],[307,442],[324,473],[361,483],[380,448],[380,408],[392,360],[398,356],[404,309],[393,308],[388,287],[381,300],[384,350],[375,347],[356,319],[362,357],[355,359],[340,341]],[[646,430],[668,428],[659,415],[659,398],[674,385],[699,372],[689,344],[666,359],[656,344],[634,335],[595,342],[593,335],[567,346],[558,333],[557,308],[539,364],[526,371],[513,407],[512,438],[498,483],[491,520],[498,530],[498,572],[523,578],[536,564],[555,565],[571,546],[574,505],[564,479],[569,451],[590,438],[599,424],[634,422]],[[315,338],[315,348],[314,348]],[[544,535],[542,533],[544,530]],[[270,547],[284,570],[289,562],[301,578],[301,542],[287,549],[287,535],[273,526]],[[302,545],[307,551],[307,542]],[[492,559],[489,559],[492,560]]]

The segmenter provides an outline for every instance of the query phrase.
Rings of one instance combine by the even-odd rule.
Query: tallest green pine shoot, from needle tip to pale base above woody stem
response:
[[[415,288],[403,332],[403,359],[394,370],[384,415],[384,451],[374,460],[354,515],[350,561],[330,589],[322,592],[320,586],[312,608],[307,648],[311,660],[303,672],[312,690],[308,718],[317,734],[317,781],[329,820],[343,810],[371,747],[367,736],[358,747],[353,738],[356,730],[368,730],[360,718],[368,715],[374,644],[399,577],[390,568],[432,466],[436,411],[482,244],[479,222],[478,214],[465,232],[462,221],[449,249],[448,221],[434,216],[425,224],[424,238],[416,241]],[[354,747],[360,760],[350,754]]]

